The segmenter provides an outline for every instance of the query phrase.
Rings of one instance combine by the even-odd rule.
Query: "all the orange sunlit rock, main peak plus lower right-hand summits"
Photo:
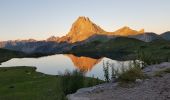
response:
[[[57,42],[75,43],[88,39],[94,35],[109,35],[109,36],[129,36],[144,33],[144,29],[140,31],[133,30],[127,26],[115,31],[106,32],[101,27],[93,23],[88,17],[80,16],[72,24],[72,27],[66,36],[61,38],[51,37],[48,40]]]

